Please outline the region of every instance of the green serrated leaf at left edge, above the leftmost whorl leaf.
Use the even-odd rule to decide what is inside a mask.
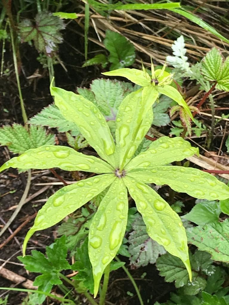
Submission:
[[[20,124],[0,128],[0,144],[8,146],[13,153],[22,154],[31,148],[55,144],[55,136],[47,135],[45,128],[30,126],[27,131]],[[27,168],[27,167],[24,167]]]

